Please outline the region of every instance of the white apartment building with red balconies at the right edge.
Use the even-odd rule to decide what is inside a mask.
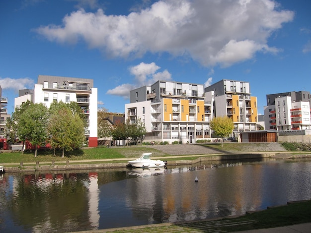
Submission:
[[[276,130],[311,129],[310,92],[283,92],[266,95],[265,128]]]

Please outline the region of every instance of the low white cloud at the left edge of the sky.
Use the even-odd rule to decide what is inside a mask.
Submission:
[[[18,90],[21,89],[33,89],[34,80],[31,78],[1,78],[0,77],[0,86],[2,90],[10,89],[15,93],[18,93]]]

